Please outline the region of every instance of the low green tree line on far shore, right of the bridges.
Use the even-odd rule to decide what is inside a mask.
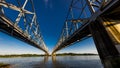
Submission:
[[[90,56],[90,55],[98,55],[98,54],[93,54],[93,53],[83,53],[83,54],[78,54],[78,53],[62,53],[62,54],[56,54],[56,56]]]

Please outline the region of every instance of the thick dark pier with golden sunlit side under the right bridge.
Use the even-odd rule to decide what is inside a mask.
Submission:
[[[113,25],[111,26],[114,27]],[[120,30],[117,33],[119,35],[114,35],[115,31],[112,31],[110,26],[105,26],[105,21],[101,18],[91,23],[89,28],[104,68],[119,68],[120,48],[118,46],[120,46],[120,42],[118,42],[118,39],[114,37],[120,37]],[[114,27],[114,29],[117,28]]]

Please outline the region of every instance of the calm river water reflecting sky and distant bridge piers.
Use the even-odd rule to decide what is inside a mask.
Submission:
[[[10,68],[103,68],[98,56],[0,58]]]

